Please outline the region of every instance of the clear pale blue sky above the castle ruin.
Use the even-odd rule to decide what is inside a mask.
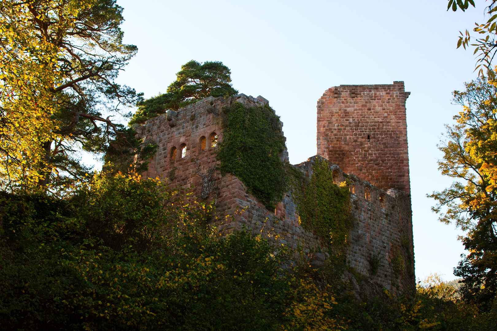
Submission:
[[[416,277],[451,280],[461,232],[437,221],[425,195],[451,183],[437,171],[436,144],[459,111],[451,91],[476,77],[473,52],[455,47],[459,30],[483,21],[485,1],[475,2],[454,13],[446,0],[118,0],[125,42],[139,49],[118,81],[151,97],[189,60],[222,61],[233,87],[281,116],[295,164],[316,154],[316,102],[327,88],[404,80]]]

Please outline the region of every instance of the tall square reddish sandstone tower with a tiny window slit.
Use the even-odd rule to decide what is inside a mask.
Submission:
[[[318,155],[379,189],[411,192],[403,81],[340,85],[318,101]]]

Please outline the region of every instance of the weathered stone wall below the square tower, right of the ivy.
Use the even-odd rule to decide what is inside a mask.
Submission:
[[[322,157],[316,155],[296,166],[310,178],[320,159]],[[364,276],[367,283],[375,283],[393,292],[414,289],[411,195],[396,189],[378,189],[354,174],[344,174],[331,162],[330,169],[336,170],[337,182],[350,181],[350,217],[354,226],[350,231],[347,263]],[[403,264],[398,265],[401,271],[397,274],[396,252],[401,255]],[[372,257],[379,259],[375,272],[372,270]],[[357,289],[362,288],[359,285]]]

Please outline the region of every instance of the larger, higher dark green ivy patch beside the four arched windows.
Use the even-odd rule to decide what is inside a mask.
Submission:
[[[239,102],[223,114],[223,142],[217,153],[221,172],[238,176],[248,192],[273,209],[287,188],[285,164],[279,159],[285,148],[279,116],[268,105],[246,107]]]

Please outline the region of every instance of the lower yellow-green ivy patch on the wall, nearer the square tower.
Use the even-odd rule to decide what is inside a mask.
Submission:
[[[311,180],[305,179],[302,174],[299,179],[299,175],[295,171],[293,173],[297,179],[294,192],[302,227],[312,230],[323,244],[335,251],[345,247],[353,225],[347,183],[335,184],[328,160],[315,163]]]

